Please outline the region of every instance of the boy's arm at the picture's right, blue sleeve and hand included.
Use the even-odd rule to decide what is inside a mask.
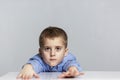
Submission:
[[[63,72],[59,77],[77,77],[83,75],[83,73],[81,73],[82,68],[74,56],[70,56],[66,59],[66,63],[63,66],[63,70],[66,72]]]

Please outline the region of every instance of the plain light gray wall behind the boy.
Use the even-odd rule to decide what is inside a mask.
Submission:
[[[0,75],[38,53],[49,25],[67,32],[83,70],[120,71],[120,0],[0,0]]]

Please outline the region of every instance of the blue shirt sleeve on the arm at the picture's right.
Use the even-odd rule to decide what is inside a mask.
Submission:
[[[63,70],[67,71],[70,66],[75,66],[79,71],[82,71],[82,68],[80,64],[76,61],[76,57],[73,56],[72,54],[69,54],[67,56],[65,61],[65,64],[63,66]]]

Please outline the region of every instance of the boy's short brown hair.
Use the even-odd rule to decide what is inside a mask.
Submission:
[[[40,47],[44,46],[44,41],[46,38],[52,39],[55,37],[63,38],[65,48],[67,47],[68,37],[67,37],[66,32],[63,29],[58,28],[58,27],[54,27],[54,26],[49,26],[41,32],[41,35],[39,37],[39,46]]]

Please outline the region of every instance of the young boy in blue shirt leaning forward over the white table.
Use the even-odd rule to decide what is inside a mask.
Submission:
[[[63,72],[59,78],[76,77],[81,72],[75,56],[68,52],[66,32],[58,27],[47,27],[39,37],[39,54],[23,66],[17,78],[39,78],[40,72]]]

